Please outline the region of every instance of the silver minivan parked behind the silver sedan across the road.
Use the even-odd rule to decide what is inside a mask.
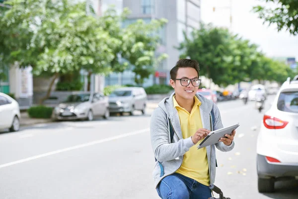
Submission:
[[[129,112],[141,110],[145,114],[147,94],[142,87],[126,87],[116,89],[109,96],[109,109],[111,113]]]

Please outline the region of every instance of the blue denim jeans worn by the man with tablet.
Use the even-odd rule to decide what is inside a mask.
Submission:
[[[176,173],[162,179],[156,191],[161,199],[208,199],[211,197],[211,190],[208,186]]]

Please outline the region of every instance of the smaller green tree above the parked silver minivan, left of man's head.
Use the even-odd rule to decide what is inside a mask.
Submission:
[[[109,7],[99,20],[104,30],[119,41],[113,52],[117,55],[111,62],[113,71],[121,73],[131,68],[136,74],[135,82],[143,84],[152,74],[153,67],[167,57],[166,54],[155,54],[160,40],[157,32],[167,20],[154,19],[145,23],[139,19],[129,25],[122,25],[127,23],[129,14],[130,11],[124,9],[123,13],[118,15],[113,7]]]

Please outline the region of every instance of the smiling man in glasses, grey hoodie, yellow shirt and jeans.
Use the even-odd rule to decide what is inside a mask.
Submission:
[[[197,149],[212,127],[223,128],[220,111],[212,100],[196,94],[201,82],[197,61],[180,59],[170,75],[175,92],[158,104],[150,123],[155,187],[162,199],[208,199],[208,186],[215,181],[215,146],[232,150],[235,131],[216,145]]]

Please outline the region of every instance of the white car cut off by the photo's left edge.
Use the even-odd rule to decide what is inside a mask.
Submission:
[[[20,128],[20,108],[16,100],[0,93],[0,129],[18,131]]]

